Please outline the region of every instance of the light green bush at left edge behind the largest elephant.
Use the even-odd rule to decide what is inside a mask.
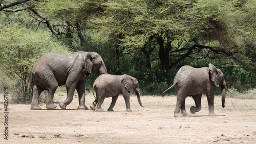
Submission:
[[[19,103],[30,102],[28,89],[30,70],[37,59],[48,53],[70,53],[65,46],[51,39],[51,34],[42,30],[27,29],[26,23],[10,22],[0,28],[1,74],[11,79],[8,87],[16,93]]]

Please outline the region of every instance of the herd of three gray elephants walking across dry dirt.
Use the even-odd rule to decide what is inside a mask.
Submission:
[[[48,53],[41,56],[34,64],[31,70],[32,103],[31,110],[40,110],[38,105],[39,95],[47,90],[46,108],[55,109],[57,106],[53,103],[53,95],[58,86],[65,85],[67,88],[67,98],[60,102],[59,106],[65,110],[73,100],[75,89],[78,93],[78,109],[88,109],[84,98],[84,76],[95,74],[98,78],[93,84],[96,93],[95,101],[90,108],[96,111],[102,111],[101,104],[105,98],[112,97],[112,102],[108,111],[113,111],[119,94],[123,95],[126,111],[132,111],[130,108],[129,93],[135,91],[138,102],[140,100],[139,83],[136,78],[129,75],[110,75],[107,73],[105,64],[97,53],[76,52],[69,55]],[[191,66],[182,66],[171,87],[166,89],[163,94],[175,87],[177,90],[177,103],[174,116],[177,117],[181,111],[182,116],[186,116],[185,99],[189,96],[195,101],[196,107],[190,107],[190,112],[195,113],[201,110],[202,92],[206,92],[208,101],[209,116],[215,116],[214,113],[214,86],[222,89],[222,107],[225,107],[226,82],[222,71],[209,63],[209,67],[194,68]],[[142,106],[144,107],[144,106]]]

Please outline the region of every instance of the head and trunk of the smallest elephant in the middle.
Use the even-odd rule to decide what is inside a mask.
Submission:
[[[139,102],[140,106],[142,106],[141,101],[140,101],[139,82],[137,81],[137,79],[134,77],[131,77],[129,75],[123,75],[121,83],[129,92],[135,91],[137,98],[138,98],[138,102]],[[144,106],[142,106],[142,107],[144,107]]]

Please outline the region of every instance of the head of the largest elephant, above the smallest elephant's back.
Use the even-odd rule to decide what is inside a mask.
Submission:
[[[89,75],[90,73],[93,73],[97,76],[101,74],[108,74],[105,64],[99,54],[87,52],[82,53],[85,53],[84,70],[86,71],[86,75]]]

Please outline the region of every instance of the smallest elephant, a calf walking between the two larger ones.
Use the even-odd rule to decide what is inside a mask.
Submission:
[[[110,74],[102,74],[95,80],[93,84],[93,89],[95,89],[96,91],[96,98],[93,104],[91,105],[92,110],[95,110],[95,106],[98,103],[96,110],[103,111],[101,109],[101,104],[103,103],[104,99],[108,97],[112,97],[112,102],[108,111],[113,111],[113,107],[116,104],[118,95],[122,93],[125,101],[125,105],[126,105],[126,111],[132,111],[130,108],[130,95],[129,95],[129,93],[132,91],[136,92],[139,104],[140,106],[142,106],[140,101],[139,83],[137,79],[129,75],[117,76],[117,75],[110,75]],[[93,95],[94,95],[94,92],[93,92]]]

